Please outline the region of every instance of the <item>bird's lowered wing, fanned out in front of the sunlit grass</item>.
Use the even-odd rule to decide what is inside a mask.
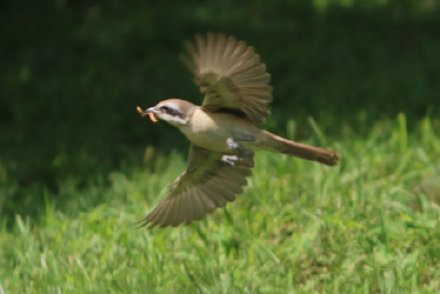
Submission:
[[[246,158],[231,166],[221,161],[221,156],[220,153],[191,145],[186,170],[141,225],[166,227],[189,224],[233,201],[235,195],[243,191],[254,161]]]

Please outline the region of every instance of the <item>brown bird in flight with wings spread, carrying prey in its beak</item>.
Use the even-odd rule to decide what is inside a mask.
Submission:
[[[197,34],[181,59],[204,95],[201,105],[170,98],[142,117],[178,128],[190,142],[187,166],[139,225],[177,227],[202,219],[241,194],[259,150],[334,166],[338,153],[258,127],[270,113],[271,76],[254,48],[221,33]]]

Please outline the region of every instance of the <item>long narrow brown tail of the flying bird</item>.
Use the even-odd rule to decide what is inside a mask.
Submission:
[[[326,165],[335,165],[340,158],[336,152],[331,150],[290,141],[268,131],[263,131],[261,143],[263,148],[270,151],[281,152]]]

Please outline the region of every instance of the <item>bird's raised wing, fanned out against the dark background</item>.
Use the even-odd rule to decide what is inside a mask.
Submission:
[[[252,47],[223,34],[196,35],[185,45],[183,61],[205,94],[203,107],[238,111],[254,123],[269,115],[270,75]]]

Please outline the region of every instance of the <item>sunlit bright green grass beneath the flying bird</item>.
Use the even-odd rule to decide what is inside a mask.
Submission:
[[[81,189],[66,179],[58,193],[67,204],[34,195],[46,201],[40,218],[17,215],[0,228],[0,293],[438,292],[434,123],[408,132],[400,115],[334,140],[310,120],[311,143],[340,151],[339,166],[259,153],[242,196],[177,229],[134,223],[184,168],[178,154],[149,148],[144,167]]]

